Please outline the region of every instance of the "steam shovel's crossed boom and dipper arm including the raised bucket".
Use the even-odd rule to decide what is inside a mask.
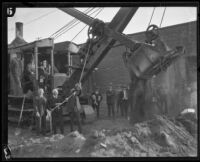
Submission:
[[[101,20],[93,19],[73,8],[60,8],[60,10],[89,25],[88,36],[90,37],[90,35],[92,35],[93,43],[89,57],[87,58],[85,67],[87,71],[83,74],[82,83],[84,83],[94,68],[98,66],[116,41],[130,49],[130,53],[124,57],[124,60],[131,74],[131,78],[133,79],[135,77],[141,79],[151,78],[162,70],[162,68],[160,68],[161,66],[166,68],[176,60],[176,58],[180,56],[177,53],[183,53],[182,48],[172,51],[166,50],[165,43],[158,35],[158,27],[156,25],[150,25],[147,28],[146,38],[148,43],[137,43],[122,34],[123,30],[138,10],[138,7],[120,8],[110,23],[104,23]],[[151,27],[153,27],[152,30],[150,30]],[[155,42],[154,45],[151,44],[152,41]],[[88,49],[87,45],[86,43],[86,51]],[[165,57],[163,57],[163,55],[165,55]],[[160,62],[163,63],[160,64]],[[63,85],[65,91],[69,92],[69,88],[73,88],[74,85],[78,83],[80,74],[80,70],[74,71],[70,79]]]

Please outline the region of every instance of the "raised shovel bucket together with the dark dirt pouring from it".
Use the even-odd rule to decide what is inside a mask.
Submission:
[[[156,46],[139,43],[137,46],[132,53],[124,54],[124,62],[132,80],[130,122],[133,124],[164,113],[153,101],[154,94],[149,79],[165,70],[184,53],[183,47],[167,51],[162,43]]]

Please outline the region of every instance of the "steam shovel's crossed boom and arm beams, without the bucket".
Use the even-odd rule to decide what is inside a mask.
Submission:
[[[98,29],[98,25],[100,26],[99,30],[103,29],[103,34],[100,36],[100,40],[91,47],[92,55],[90,55],[87,60],[86,69],[88,70],[83,74],[82,83],[86,81],[94,68],[97,67],[101,60],[106,56],[111,47],[116,43],[116,40],[120,43],[126,44],[130,48],[133,48],[135,45],[135,42],[121,34],[121,32],[123,32],[133,15],[136,13],[138,7],[121,8],[108,24],[93,19],[92,17],[72,8],[59,9],[92,27],[93,31],[91,31],[91,33],[93,32],[93,35],[95,35],[95,29]],[[94,25],[96,24],[98,25],[94,28]],[[73,88],[79,81],[80,75],[81,71],[75,70],[70,79],[63,84],[65,94],[68,94],[69,89]]]

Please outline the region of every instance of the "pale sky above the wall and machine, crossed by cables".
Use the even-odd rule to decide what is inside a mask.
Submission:
[[[76,8],[85,11],[87,8]],[[96,8],[97,9],[97,8]],[[115,14],[119,11],[119,7],[104,7],[96,18],[110,22]],[[150,22],[153,7],[139,7],[129,24],[124,29],[124,34],[133,34],[145,31]],[[164,13],[164,7],[156,7],[151,24],[160,25]],[[94,10],[95,11],[95,10]],[[93,12],[93,11],[92,11]],[[98,11],[91,14],[94,17]],[[73,19],[72,16],[59,10],[58,8],[17,8],[13,17],[8,17],[8,43],[15,38],[15,23],[22,22],[23,37],[27,42],[33,42],[37,39],[50,37],[64,25]],[[166,7],[161,27],[171,26],[181,23],[197,20],[196,7]],[[62,34],[54,40],[55,43],[63,41],[71,41],[72,38],[83,28],[85,24],[80,22],[68,32]],[[87,40],[88,26],[73,39],[74,43],[81,44]]]

